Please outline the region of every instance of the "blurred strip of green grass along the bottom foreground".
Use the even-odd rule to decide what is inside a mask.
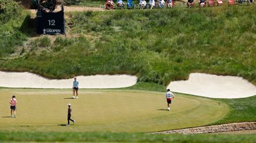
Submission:
[[[41,133],[0,132],[8,142],[255,142],[255,134],[127,134],[127,133]]]

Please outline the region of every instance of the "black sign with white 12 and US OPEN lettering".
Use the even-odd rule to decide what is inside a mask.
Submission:
[[[65,34],[64,11],[37,12],[36,30],[38,34]]]

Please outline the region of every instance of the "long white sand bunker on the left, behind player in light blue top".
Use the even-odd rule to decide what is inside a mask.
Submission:
[[[78,76],[79,88],[122,88],[137,82],[133,75]],[[52,80],[30,72],[0,71],[0,87],[16,88],[72,88],[73,79]]]

